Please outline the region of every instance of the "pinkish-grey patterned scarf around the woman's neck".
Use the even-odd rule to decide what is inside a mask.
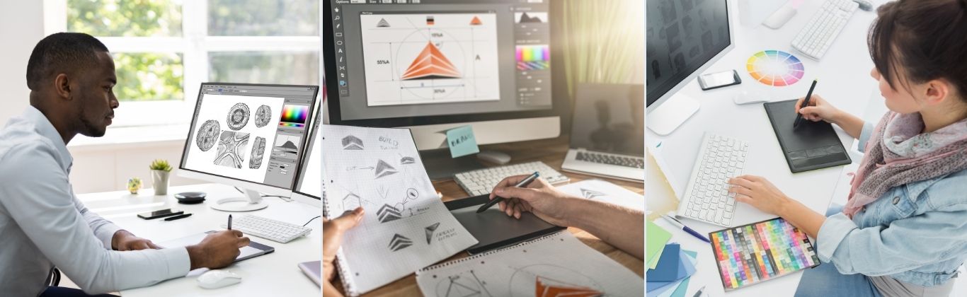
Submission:
[[[967,119],[923,132],[919,112],[887,112],[866,142],[843,213],[853,218],[891,188],[967,169]]]

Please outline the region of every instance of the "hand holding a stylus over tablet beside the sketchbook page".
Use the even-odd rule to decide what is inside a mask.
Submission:
[[[540,178],[531,182],[527,188],[513,187],[527,176],[515,175],[500,181],[490,192],[490,199],[504,197],[504,201],[499,203],[500,210],[517,219],[520,219],[520,214],[531,212],[547,223],[570,225],[566,207],[573,197],[558,191]]]

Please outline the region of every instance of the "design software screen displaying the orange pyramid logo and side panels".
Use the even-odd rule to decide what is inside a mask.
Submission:
[[[334,1],[342,119],[551,108],[546,1],[476,2]]]

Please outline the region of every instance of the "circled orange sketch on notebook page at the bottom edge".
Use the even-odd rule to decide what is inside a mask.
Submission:
[[[513,296],[596,297],[604,295],[601,285],[590,277],[550,264],[535,264],[515,269],[508,287]]]

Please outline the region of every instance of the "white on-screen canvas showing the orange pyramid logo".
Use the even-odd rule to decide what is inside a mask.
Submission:
[[[500,100],[495,13],[360,15],[366,104]]]

